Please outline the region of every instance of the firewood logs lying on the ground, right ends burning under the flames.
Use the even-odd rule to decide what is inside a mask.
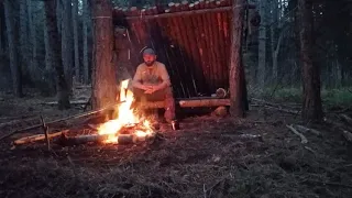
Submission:
[[[13,141],[13,145],[23,145],[31,143],[45,143],[47,150],[51,144],[62,146],[73,146],[79,144],[139,144],[143,142],[153,142],[157,134],[157,128],[145,123],[132,123],[123,125],[114,132],[103,132],[105,124],[112,123],[108,121],[100,124],[84,124],[78,128],[62,130],[58,132],[50,132],[48,125],[43,121],[38,131],[41,134],[23,136]],[[111,125],[111,124],[110,124]],[[111,127],[110,127],[111,128]]]

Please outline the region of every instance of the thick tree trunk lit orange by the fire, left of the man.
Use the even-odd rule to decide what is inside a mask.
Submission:
[[[116,102],[117,77],[112,64],[113,26],[111,0],[92,1],[94,59],[92,109]]]

